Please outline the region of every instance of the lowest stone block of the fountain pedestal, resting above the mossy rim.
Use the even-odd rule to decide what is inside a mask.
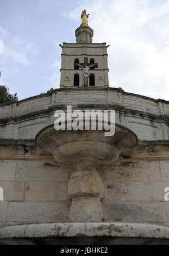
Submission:
[[[101,222],[103,216],[100,198],[73,198],[69,212],[70,222]]]

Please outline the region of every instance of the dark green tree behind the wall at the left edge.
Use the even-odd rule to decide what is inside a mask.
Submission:
[[[0,85],[0,103],[10,103],[18,101],[17,93],[10,94],[9,88],[5,85]]]

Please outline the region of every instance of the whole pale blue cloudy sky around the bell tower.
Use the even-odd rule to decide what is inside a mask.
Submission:
[[[19,99],[59,88],[59,44],[84,8],[93,42],[110,45],[109,85],[169,101],[169,0],[0,0],[0,84]]]

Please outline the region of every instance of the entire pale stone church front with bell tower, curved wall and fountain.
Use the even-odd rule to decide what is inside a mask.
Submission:
[[[108,46],[93,36],[84,24],[60,45],[60,89],[0,105],[0,244],[169,239],[169,102],[111,88]],[[115,110],[114,136],[55,131],[68,106]]]

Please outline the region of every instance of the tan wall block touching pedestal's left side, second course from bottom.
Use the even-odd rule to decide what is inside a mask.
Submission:
[[[67,187],[63,182],[30,182],[26,184],[25,201],[64,201],[68,195]]]

